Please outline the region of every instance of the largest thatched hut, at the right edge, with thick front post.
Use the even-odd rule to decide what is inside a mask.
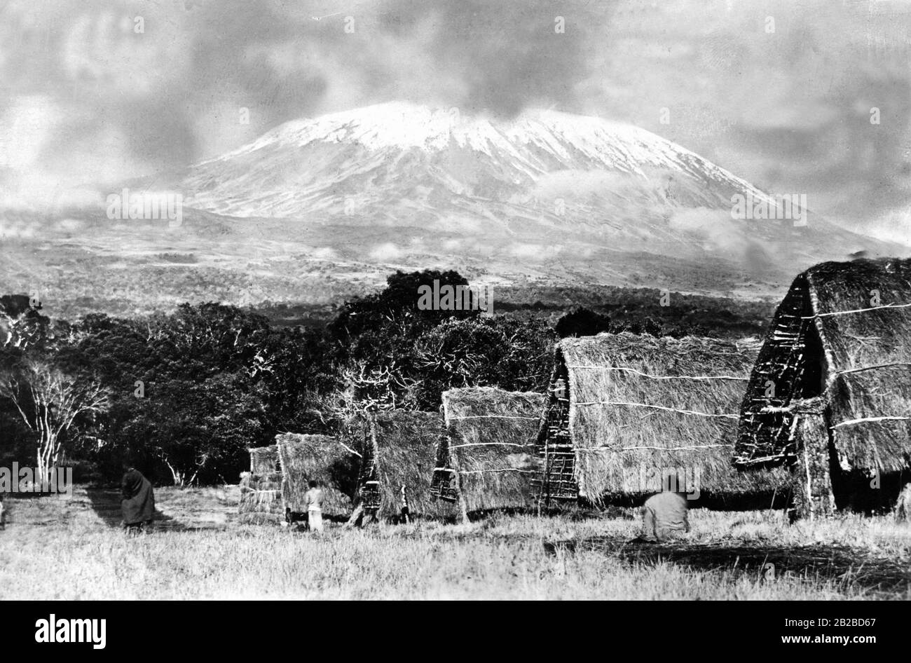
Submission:
[[[824,262],[775,311],[736,462],[790,466],[802,515],[894,504],[911,480],[911,260]]]

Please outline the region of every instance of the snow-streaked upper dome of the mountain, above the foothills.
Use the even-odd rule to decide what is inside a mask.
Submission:
[[[763,195],[664,138],[598,117],[531,110],[501,120],[397,102],[288,122],[201,162],[183,187],[201,209],[280,217],[470,214],[482,201],[559,214],[558,200],[629,207],[632,192],[651,204],[724,208],[732,193]]]

